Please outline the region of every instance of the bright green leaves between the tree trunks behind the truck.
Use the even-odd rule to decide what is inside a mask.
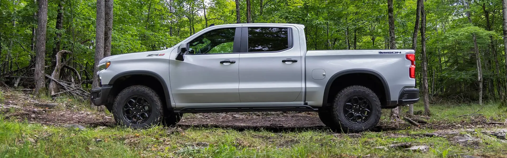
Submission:
[[[91,73],[96,1],[61,1],[62,30],[55,28],[58,3],[49,4],[47,64],[54,56],[58,32],[62,33],[60,49],[73,52],[65,57],[71,59],[70,65]],[[241,21],[245,22],[246,3],[239,2]],[[503,86],[507,81],[501,75],[506,72],[502,66],[505,58],[501,39],[501,1],[474,1],[467,10],[462,4],[462,0],[424,1],[430,93],[441,97],[476,93],[477,68],[472,38],[475,35],[483,64],[485,98],[498,100],[500,91],[507,91]],[[0,70],[28,66],[34,57],[32,30],[37,27],[37,19],[33,16],[37,4],[26,0],[3,0],[0,6]],[[472,23],[468,22],[467,11],[472,15]],[[396,47],[399,49],[412,49],[415,12],[416,0],[394,2]],[[263,0],[262,6],[261,1],[251,1],[251,13],[254,23],[304,24],[310,50],[388,49],[386,1]],[[112,54],[167,49],[210,24],[235,22],[235,1],[232,0],[115,1]],[[421,85],[420,35],[417,41],[417,85]],[[213,51],[223,52],[222,49],[228,47]],[[49,71],[50,68],[47,73]],[[82,74],[83,78],[85,74]],[[464,99],[475,101],[477,97]]]

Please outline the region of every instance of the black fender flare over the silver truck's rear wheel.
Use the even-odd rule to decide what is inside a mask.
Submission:
[[[331,76],[331,78],[329,78],[328,83],[325,85],[322,106],[325,106],[326,104],[328,104],[329,90],[331,89],[331,85],[336,80],[336,78],[338,78],[342,75],[345,75],[345,74],[350,74],[350,73],[368,73],[368,74],[373,74],[373,75],[377,76],[380,79],[380,82],[382,82],[382,85],[384,86],[386,104],[390,104],[391,95],[389,93],[389,87],[387,85],[387,82],[385,82],[385,78],[382,75],[380,75],[379,73],[377,73],[375,71],[367,70],[367,69],[351,69],[351,70],[337,72],[337,73],[333,74],[333,76]]]

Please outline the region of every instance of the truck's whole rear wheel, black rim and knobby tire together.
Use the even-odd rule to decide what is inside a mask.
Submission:
[[[333,102],[332,115],[336,130],[363,132],[372,130],[380,120],[381,104],[377,95],[363,86],[350,86],[340,92]]]

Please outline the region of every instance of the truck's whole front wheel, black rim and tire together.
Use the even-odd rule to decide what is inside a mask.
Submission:
[[[113,104],[113,116],[118,125],[134,129],[158,125],[163,119],[162,101],[147,86],[130,86],[118,94]]]

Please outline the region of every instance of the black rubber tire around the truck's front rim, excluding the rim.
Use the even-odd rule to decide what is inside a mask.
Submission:
[[[127,99],[131,98],[132,96],[143,97],[151,106],[150,116],[144,123],[139,125],[129,123],[123,112],[124,105],[128,101]],[[141,85],[130,86],[122,90],[115,99],[112,113],[115,118],[115,122],[118,125],[133,129],[145,129],[151,126],[159,125],[162,122],[164,116],[162,101],[160,100],[159,95],[150,87]]]

